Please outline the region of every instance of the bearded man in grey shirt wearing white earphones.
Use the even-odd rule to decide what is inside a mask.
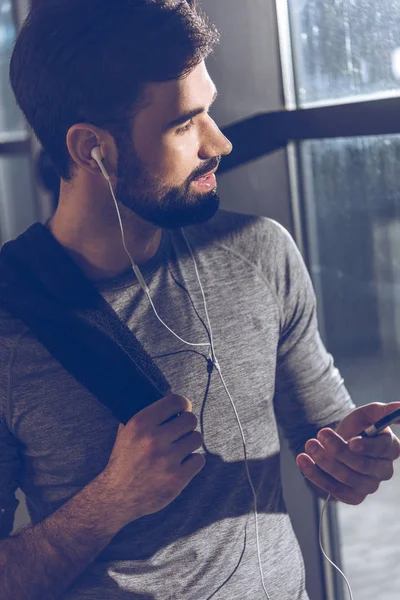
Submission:
[[[32,11],[16,43],[17,101],[61,176],[43,269],[59,264],[62,285],[72,258],[171,393],[120,424],[2,310],[4,600],[304,600],[277,424],[339,500],[358,504],[393,473],[389,429],[348,440],[398,405],[352,412],[289,235],[217,213],[231,145],[209,115],[216,37],[184,1],[67,0]],[[32,526],[10,537],[18,485]]]

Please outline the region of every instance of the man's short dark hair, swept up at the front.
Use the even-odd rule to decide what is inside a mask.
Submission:
[[[18,105],[59,175],[75,123],[112,135],[131,126],[146,84],[180,79],[218,41],[195,0],[41,0],[15,43],[10,81]]]

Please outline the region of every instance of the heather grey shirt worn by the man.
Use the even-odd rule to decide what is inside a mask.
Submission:
[[[289,234],[269,219],[221,211],[186,235],[246,438],[266,587],[271,600],[305,600],[304,565],[282,498],[278,424],[298,452],[353,405],[318,335],[310,279]],[[201,290],[180,231],[164,232],[142,272],[160,317],[186,341],[207,343]],[[218,373],[209,378],[207,348],[185,346],[160,324],[133,273],[99,291],[173,391],[191,400],[207,462],[170,506],[120,531],[64,600],[262,600],[242,440]],[[0,335],[5,536],[17,486],[32,521],[44,519],[104,469],[118,422],[23,323],[1,314]]]

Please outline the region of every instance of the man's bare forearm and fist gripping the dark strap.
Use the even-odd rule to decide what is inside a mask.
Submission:
[[[50,517],[0,542],[1,600],[58,598],[120,529],[168,506],[205,464],[195,453],[203,443],[196,427],[190,402],[172,394],[120,425],[100,475]]]

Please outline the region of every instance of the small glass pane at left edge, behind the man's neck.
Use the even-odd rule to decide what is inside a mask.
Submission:
[[[0,157],[0,243],[37,220],[32,181],[30,157]]]

